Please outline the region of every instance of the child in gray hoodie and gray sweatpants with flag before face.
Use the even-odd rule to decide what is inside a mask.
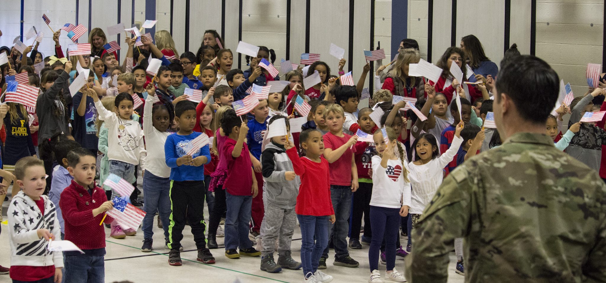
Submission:
[[[280,121],[282,119],[282,121]],[[273,123],[285,123],[287,134],[271,138],[263,151],[263,194],[265,214],[261,224],[262,258],[261,270],[269,273],[280,272],[282,268],[298,270],[301,262],[291,257],[290,243],[296,226],[295,206],[301,180],[296,176],[293,163],[288,160],[285,147],[290,135],[290,125],[286,117],[276,115],[269,120]],[[267,130],[269,131],[269,129]],[[273,260],[276,239],[278,239],[278,264]]]

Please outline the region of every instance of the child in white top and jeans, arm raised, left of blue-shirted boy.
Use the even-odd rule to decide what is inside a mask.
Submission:
[[[179,66],[181,67],[181,66]],[[145,218],[143,218],[143,246],[141,252],[151,252],[153,244],[153,218],[158,212],[158,218],[164,229],[164,242],[168,244],[168,227],[170,225],[170,168],[167,166],[164,154],[164,144],[170,132],[167,132],[173,115],[164,105],[153,105],[155,89],[151,83],[147,86],[150,96],[145,100],[143,115],[143,134],[145,144],[150,149],[146,159],[145,174],[143,175],[143,190]],[[168,245],[167,245],[168,246]]]

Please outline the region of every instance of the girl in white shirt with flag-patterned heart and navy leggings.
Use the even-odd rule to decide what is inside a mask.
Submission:
[[[371,272],[368,282],[371,283],[383,282],[378,264],[379,247],[384,239],[387,262],[385,279],[406,282],[404,275],[396,270],[395,262],[400,216],[408,215],[410,209],[410,181],[404,165],[404,148],[398,142],[399,134],[390,127],[386,127],[385,131],[388,143],[385,143],[382,131],[376,131],[373,135],[378,155],[372,158],[373,184],[376,186],[370,200],[369,224],[374,233],[368,250]],[[396,150],[399,158],[395,155]]]

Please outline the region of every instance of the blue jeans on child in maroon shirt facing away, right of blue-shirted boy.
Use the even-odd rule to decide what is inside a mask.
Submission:
[[[248,249],[252,247],[248,239],[248,223],[250,222],[253,196],[230,195],[225,190],[227,216],[225,217],[225,250]]]

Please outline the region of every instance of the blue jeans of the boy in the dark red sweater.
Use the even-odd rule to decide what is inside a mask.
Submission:
[[[104,256],[65,256],[64,259],[64,282],[105,283]]]

